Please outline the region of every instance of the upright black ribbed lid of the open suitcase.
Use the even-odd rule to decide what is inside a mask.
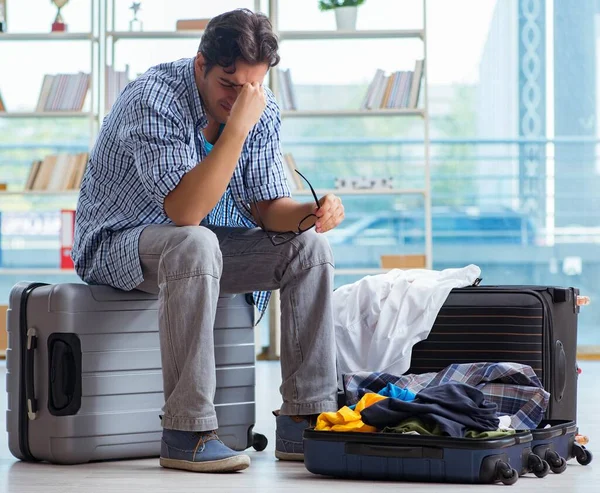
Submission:
[[[407,374],[453,363],[510,361],[533,368],[550,392],[547,419],[577,420],[579,290],[547,286],[453,289]]]

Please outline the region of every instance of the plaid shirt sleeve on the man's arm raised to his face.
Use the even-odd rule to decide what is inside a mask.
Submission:
[[[119,131],[144,189],[163,211],[165,197],[197,164],[190,146],[193,129],[186,128],[174,100],[168,103],[142,95],[130,104]]]

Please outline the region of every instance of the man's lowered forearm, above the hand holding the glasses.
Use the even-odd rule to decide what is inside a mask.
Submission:
[[[289,197],[260,202],[260,217],[264,227],[269,231],[298,231],[298,225],[309,214],[314,214],[316,204],[314,202],[300,203]],[[256,211],[254,217],[258,221]],[[316,217],[309,217],[302,223],[303,229],[315,224]]]

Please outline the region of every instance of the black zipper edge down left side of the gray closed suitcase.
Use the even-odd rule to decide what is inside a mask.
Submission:
[[[33,351],[35,350],[35,335],[29,332],[27,323],[27,301],[34,289],[47,286],[46,283],[32,283],[21,294],[19,305],[19,342],[20,342],[20,379],[19,379],[19,448],[26,461],[37,461],[29,448],[29,420],[35,416],[37,405],[35,403],[34,375],[33,375]],[[29,351],[28,351],[29,349]],[[29,391],[29,392],[28,392]],[[29,393],[29,395],[28,395]]]

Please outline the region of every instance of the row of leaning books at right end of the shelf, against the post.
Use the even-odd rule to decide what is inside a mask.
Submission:
[[[423,78],[423,60],[415,62],[415,70],[399,70],[387,75],[377,69],[369,84],[361,109],[416,108]]]

